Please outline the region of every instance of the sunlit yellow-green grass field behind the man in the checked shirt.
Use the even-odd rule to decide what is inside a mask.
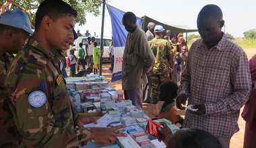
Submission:
[[[242,48],[255,48],[256,50],[256,40],[253,39],[234,39],[234,42],[241,46]],[[188,42],[187,46],[190,48],[193,42]]]

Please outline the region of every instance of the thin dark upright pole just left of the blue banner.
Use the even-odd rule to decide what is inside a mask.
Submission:
[[[106,5],[106,0],[103,0],[101,34],[100,34],[100,75],[102,75],[102,54],[104,52],[104,50],[103,50],[103,33],[104,33],[105,5]]]

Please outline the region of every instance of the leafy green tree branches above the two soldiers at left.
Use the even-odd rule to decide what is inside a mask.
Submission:
[[[11,7],[7,7],[7,9],[13,9],[19,7],[23,11],[28,13],[28,17],[30,17],[30,22],[32,26],[34,26],[34,19],[36,15],[36,9],[38,8],[39,4],[43,0],[0,0],[0,6],[2,8],[3,4],[12,3]],[[92,13],[93,15],[97,16],[100,14],[100,5],[102,4],[101,0],[63,0],[69,5],[71,5],[74,9],[77,10],[77,19],[76,22],[82,26],[86,24],[86,13]]]

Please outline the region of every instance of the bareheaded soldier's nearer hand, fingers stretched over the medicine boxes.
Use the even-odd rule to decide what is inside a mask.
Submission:
[[[119,125],[111,128],[91,128],[91,139],[103,143],[104,145],[110,145],[115,143],[117,137],[127,137],[125,133],[117,133],[120,128],[125,128],[125,125]]]

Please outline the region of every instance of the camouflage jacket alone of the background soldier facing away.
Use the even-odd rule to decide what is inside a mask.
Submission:
[[[154,38],[148,42],[156,59],[152,69],[153,75],[164,75],[168,77],[171,69],[174,67],[174,56],[172,54],[171,44],[168,40]]]

